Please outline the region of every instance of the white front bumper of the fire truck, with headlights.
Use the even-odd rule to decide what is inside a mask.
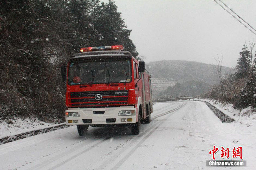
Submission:
[[[123,110],[135,110],[134,116],[118,116],[118,113]],[[93,114],[95,111],[105,111],[104,114]],[[123,107],[105,107],[105,108],[69,108],[66,112],[78,112],[80,117],[66,117],[66,123],[68,125],[103,125],[103,124],[127,124],[136,123],[138,113],[133,106]],[[132,118],[131,122],[127,122],[128,118]],[[121,119],[126,119],[126,122],[122,122]],[[72,123],[68,123],[68,120],[72,120]],[[74,123],[74,120],[78,120],[78,123]],[[85,123],[85,122],[90,123]],[[110,121],[109,121],[110,120]],[[115,122],[113,122],[115,120]]]

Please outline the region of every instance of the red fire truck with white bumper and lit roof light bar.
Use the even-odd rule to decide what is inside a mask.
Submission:
[[[132,134],[139,134],[140,124],[150,123],[151,76],[144,62],[123,49],[122,45],[81,48],[82,53],[60,66],[67,84],[66,123],[77,125],[80,136],[89,125],[130,126]]]

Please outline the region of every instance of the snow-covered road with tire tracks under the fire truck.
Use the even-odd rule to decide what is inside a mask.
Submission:
[[[222,123],[203,102],[153,105],[152,122],[139,135],[128,129],[89,127],[79,137],[76,126],[0,145],[0,169],[254,169],[255,132]],[[247,167],[206,167],[209,150],[243,147]],[[232,158],[230,149],[228,160]],[[220,158],[220,151],[215,154]],[[227,159],[224,159],[227,160]]]

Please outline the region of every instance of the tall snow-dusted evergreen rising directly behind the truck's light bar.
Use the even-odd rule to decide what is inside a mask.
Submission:
[[[123,45],[134,57],[138,55],[136,47],[129,36],[132,30],[126,29],[121,13],[113,0],[101,3],[92,13],[95,31],[99,35],[97,46]]]

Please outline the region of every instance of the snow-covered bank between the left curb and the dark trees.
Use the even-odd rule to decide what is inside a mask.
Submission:
[[[54,123],[45,123],[37,118],[14,118],[0,123],[0,138],[14,136],[33,130],[56,126]]]

